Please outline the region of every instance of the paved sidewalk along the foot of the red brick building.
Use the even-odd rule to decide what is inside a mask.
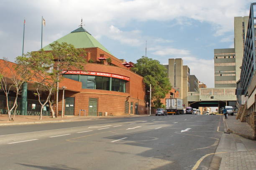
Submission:
[[[30,115],[16,115],[14,121],[8,121],[8,115],[0,114],[0,126],[6,125],[28,125],[28,124],[41,124],[41,123],[56,123],[56,122],[75,122],[75,121],[85,121],[85,120],[97,120],[97,119],[107,119],[113,117],[139,117],[148,115],[123,115],[123,116],[61,116],[57,118],[52,118],[50,116],[43,116],[42,120],[39,120],[39,116]]]

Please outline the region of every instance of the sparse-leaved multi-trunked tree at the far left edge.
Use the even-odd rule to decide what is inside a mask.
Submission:
[[[17,99],[18,95],[21,94],[22,84],[26,82],[30,76],[30,71],[28,70],[28,67],[26,67],[26,63],[20,62],[19,60],[16,60],[15,62],[16,63],[11,63],[6,59],[3,59],[3,62],[0,64],[0,87],[5,93],[6,107],[10,121],[14,121],[16,109],[18,107]],[[11,91],[15,92],[13,103],[9,101],[9,94]],[[11,117],[13,109],[13,117]]]

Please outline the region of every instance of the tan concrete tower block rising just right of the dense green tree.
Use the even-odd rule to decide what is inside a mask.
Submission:
[[[187,92],[189,91],[189,74],[190,69],[183,65],[181,58],[169,58],[168,65],[164,65],[168,72],[169,81],[179,92],[179,98],[183,99],[183,104],[188,106]]]

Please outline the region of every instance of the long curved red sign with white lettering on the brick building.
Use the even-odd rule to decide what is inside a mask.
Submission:
[[[62,71],[62,74],[104,76],[104,77],[113,77],[113,78],[118,78],[118,79],[130,81],[129,77],[125,77],[123,75],[116,75],[116,74],[106,73],[106,72],[76,71],[76,70],[69,70],[69,71],[67,71],[67,70],[64,70],[64,71]]]

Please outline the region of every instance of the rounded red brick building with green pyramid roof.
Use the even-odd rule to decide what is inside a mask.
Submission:
[[[132,62],[125,62],[114,57],[87,30],[80,27],[68,35],[56,40],[67,42],[76,48],[84,49],[87,63],[84,70],[69,70],[64,73],[59,83],[58,113],[62,110],[62,94],[64,91],[64,115],[100,116],[108,115],[146,114],[146,92],[143,77],[131,71]],[[49,45],[43,48],[51,51]],[[110,58],[111,60],[107,60]],[[26,85],[26,104],[24,114],[38,115],[39,104],[33,94],[33,85]],[[4,98],[3,94],[0,96]],[[33,99],[33,101],[32,101]],[[31,101],[28,101],[31,100]],[[52,100],[54,96],[52,96]],[[22,104],[23,108],[25,104]],[[31,107],[33,105],[36,107]],[[24,107],[24,108],[25,108]],[[1,108],[0,108],[1,109]],[[4,108],[2,109],[4,110]],[[21,108],[18,108],[21,110]],[[39,111],[40,113],[40,111]],[[44,115],[49,115],[46,106]]]

